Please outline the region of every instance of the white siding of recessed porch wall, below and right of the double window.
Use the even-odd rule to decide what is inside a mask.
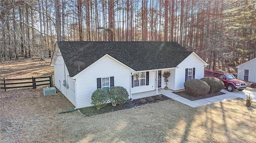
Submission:
[[[156,72],[149,72],[149,85],[132,87],[132,94],[155,90],[156,86]]]

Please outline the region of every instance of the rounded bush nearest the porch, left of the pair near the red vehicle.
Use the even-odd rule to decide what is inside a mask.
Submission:
[[[190,79],[184,82],[186,92],[193,97],[199,97],[210,91],[210,86],[200,79]]]

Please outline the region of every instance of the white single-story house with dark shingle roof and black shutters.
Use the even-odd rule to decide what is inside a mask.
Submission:
[[[208,65],[176,42],[58,41],[52,57],[55,86],[76,108],[92,106],[97,88],[123,86],[132,94],[184,89],[185,80],[204,77]],[[156,90],[157,92],[157,90]]]

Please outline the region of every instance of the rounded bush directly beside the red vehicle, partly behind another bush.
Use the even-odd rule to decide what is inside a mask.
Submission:
[[[224,83],[215,77],[203,77],[200,80],[205,81],[210,86],[209,93],[219,92],[224,88]]]

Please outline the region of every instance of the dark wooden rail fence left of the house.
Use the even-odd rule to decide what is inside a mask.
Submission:
[[[20,81],[20,82],[18,82]],[[42,77],[33,77],[32,78],[16,78],[16,79],[0,79],[0,88],[10,89],[10,88],[24,88],[24,87],[33,87],[36,89],[36,86],[49,85],[52,84],[52,76],[42,76]],[[15,86],[16,85],[16,86]]]

